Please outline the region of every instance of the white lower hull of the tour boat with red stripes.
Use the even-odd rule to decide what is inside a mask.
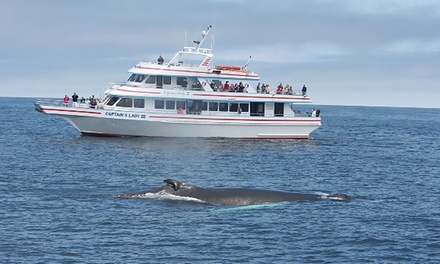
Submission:
[[[38,108],[64,118],[85,135],[307,139],[321,125],[321,119],[316,117],[146,114],[42,105]]]

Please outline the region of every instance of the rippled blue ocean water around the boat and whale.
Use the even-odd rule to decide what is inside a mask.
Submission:
[[[439,263],[440,109],[318,107],[310,140],[104,138],[0,98],[0,263]],[[112,197],[166,178],[353,199]]]

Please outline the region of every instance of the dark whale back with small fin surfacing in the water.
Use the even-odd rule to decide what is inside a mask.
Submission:
[[[347,194],[291,193],[284,191],[246,188],[202,188],[174,179],[166,179],[160,188],[116,195],[116,198],[140,198],[148,195],[182,197],[209,205],[246,206],[289,201],[314,201],[322,199],[349,201]]]

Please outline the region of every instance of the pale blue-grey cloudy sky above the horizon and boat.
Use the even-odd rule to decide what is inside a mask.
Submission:
[[[212,25],[214,64],[315,104],[440,108],[438,0],[0,0],[0,25],[3,97],[99,95]]]

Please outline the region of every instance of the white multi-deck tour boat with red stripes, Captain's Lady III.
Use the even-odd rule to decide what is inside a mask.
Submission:
[[[37,99],[36,110],[64,118],[81,134],[103,136],[307,139],[321,126],[319,112],[296,110],[311,103],[308,94],[257,90],[260,77],[247,69],[249,61],[213,66],[212,46],[203,47],[211,29],[169,62],[139,62],[96,105]],[[227,84],[240,85],[231,92]]]

